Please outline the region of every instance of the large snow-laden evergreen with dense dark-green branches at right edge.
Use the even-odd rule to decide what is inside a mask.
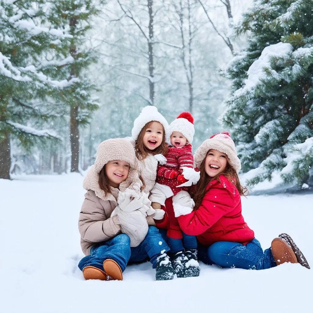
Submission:
[[[233,95],[223,122],[250,185],[274,171],[298,185],[312,179],[312,8],[312,0],[255,1],[237,29],[249,45],[228,66]]]

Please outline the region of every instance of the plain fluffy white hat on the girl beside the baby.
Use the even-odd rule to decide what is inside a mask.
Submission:
[[[168,136],[168,123],[165,117],[158,112],[157,108],[153,105],[147,105],[134,121],[133,129],[131,130],[131,136],[134,140],[138,139],[139,133],[142,128],[149,122],[156,121],[163,125],[165,138]]]

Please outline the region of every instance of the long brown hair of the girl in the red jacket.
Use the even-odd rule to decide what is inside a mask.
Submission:
[[[208,155],[208,153],[207,153],[207,155]],[[224,175],[230,182],[232,182],[236,186],[240,196],[246,196],[248,194],[248,189],[247,189],[247,187],[242,187],[242,185],[240,184],[240,180],[239,180],[239,177],[238,177],[236,170],[229,164],[228,156],[226,155],[227,165],[226,165],[224,171],[222,173],[219,173],[218,175],[216,175],[214,177],[209,177],[205,171],[205,159],[206,159],[207,155],[205,156],[205,158],[203,159],[203,161],[201,163],[200,179],[196,185],[196,192],[195,192],[195,195],[193,197],[193,200],[195,202],[195,210],[197,210],[200,207],[200,205],[202,203],[202,199],[207,192],[206,187],[208,186],[208,184],[210,182],[212,182],[213,180],[216,180],[216,179],[218,182],[220,182],[220,178],[219,178],[220,175]]]

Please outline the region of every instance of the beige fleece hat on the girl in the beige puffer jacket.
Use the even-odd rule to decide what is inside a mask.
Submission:
[[[136,167],[135,150],[130,141],[123,138],[102,141],[97,150],[95,172],[99,174],[106,163],[114,160],[126,161],[131,168]]]

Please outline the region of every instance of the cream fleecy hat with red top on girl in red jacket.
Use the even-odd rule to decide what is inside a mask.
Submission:
[[[237,156],[235,143],[229,133],[217,133],[209,139],[203,141],[202,145],[196,150],[194,162],[196,167],[200,168],[202,161],[210,149],[215,149],[225,153],[228,157],[229,164],[238,173],[241,169],[241,163]]]

